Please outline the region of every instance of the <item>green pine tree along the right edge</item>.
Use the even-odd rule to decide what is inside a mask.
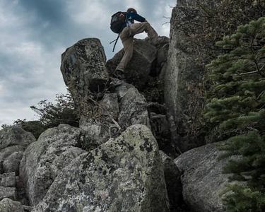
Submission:
[[[234,156],[223,171],[242,182],[228,185],[226,209],[265,211],[265,18],[241,25],[217,45],[223,54],[207,66],[208,139],[226,141],[223,157]]]

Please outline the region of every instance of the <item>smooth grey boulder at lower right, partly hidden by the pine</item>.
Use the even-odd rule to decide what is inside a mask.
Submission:
[[[193,211],[223,211],[220,192],[228,182],[222,174],[225,160],[214,143],[194,148],[175,159],[182,173],[183,197]]]

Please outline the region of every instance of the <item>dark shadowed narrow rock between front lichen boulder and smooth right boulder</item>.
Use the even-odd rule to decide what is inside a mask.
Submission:
[[[174,160],[163,151],[159,151],[159,153],[164,167],[165,183],[167,184],[167,194],[170,200],[170,211],[177,211],[183,204],[181,175]]]

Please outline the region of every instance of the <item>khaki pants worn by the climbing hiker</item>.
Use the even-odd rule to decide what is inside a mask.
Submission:
[[[124,56],[119,62],[116,70],[122,70],[126,68],[127,64],[131,60],[134,52],[134,35],[146,32],[148,37],[151,38],[151,42],[154,44],[158,41],[158,33],[151,27],[148,22],[133,23],[130,27],[126,27],[122,30],[119,37],[122,40],[124,46]]]

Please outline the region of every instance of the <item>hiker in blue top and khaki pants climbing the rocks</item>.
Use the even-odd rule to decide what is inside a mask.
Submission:
[[[122,45],[124,46],[124,56],[122,60],[117,65],[115,72],[124,73],[124,69],[131,60],[134,52],[134,35],[146,32],[148,37],[150,37],[151,42],[155,45],[158,41],[158,33],[151,27],[147,22],[146,18],[143,18],[134,8],[128,8],[126,13],[123,13],[125,16],[124,24],[120,29],[119,37],[122,40]],[[139,21],[140,23],[134,23],[134,20]]]

